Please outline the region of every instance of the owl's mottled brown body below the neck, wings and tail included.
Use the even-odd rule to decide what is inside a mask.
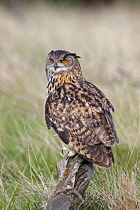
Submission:
[[[118,141],[110,107],[103,104],[106,98],[84,84],[65,84],[48,97],[46,123],[86,159],[109,167],[113,163],[111,146]]]

